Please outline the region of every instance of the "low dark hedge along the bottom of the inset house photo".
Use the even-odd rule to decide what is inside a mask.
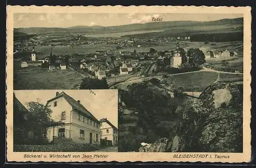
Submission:
[[[98,145],[78,144],[74,142],[53,145],[14,145],[14,152],[90,152],[99,149]]]

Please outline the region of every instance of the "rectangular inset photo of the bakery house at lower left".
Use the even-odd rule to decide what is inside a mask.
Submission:
[[[19,90],[13,97],[14,152],[118,151],[117,90]]]

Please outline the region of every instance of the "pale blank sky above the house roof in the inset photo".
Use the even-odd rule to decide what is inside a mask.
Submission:
[[[63,90],[18,90],[14,91],[15,97],[28,108],[28,102],[39,102],[46,105],[47,101],[54,98],[56,92]],[[118,128],[117,113],[117,90],[64,90],[66,94],[80,100],[80,103],[86,107],[98,120],[107,118]]]

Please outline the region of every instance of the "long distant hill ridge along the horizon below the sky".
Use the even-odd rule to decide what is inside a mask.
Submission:
[[[215,28],[216,26],[216,28]],[[221,27],[219,27],[221,26]],[[163,22],[149,22],[149,23],[136,23],[118,26],[73,26],[68,28],[58,27],[28,27],[14,29],[16,32],[26,34],[45,34],[45,33],[89,33],[89,34],[104,34],[104,33],[119,33],[119,32],[131,32],[131,31],[175,31],[186,30],[188,32],[200,31],[200,29],[208,29],[209,31],[218,29],[229,29],[230,27],[243,26],[243,18],[236,19],[221,19],[216,21],[163,21]],[[194,28],[193,30],[193,27]],[[175,30],[176,28],[176,30]],[[166,32],[165,32],[166,33]],[[182,32],[180,32],[182,33]]]

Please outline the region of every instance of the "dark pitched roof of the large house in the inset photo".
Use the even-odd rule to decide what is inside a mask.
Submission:
[[[53,101],[53,100],[55,100],[55,99],[57,99],[59,97],[64,97],[68,101],[68,103],[70,105],[72,105],[75,109],[77,109],[78,111],[80,111],[81,113],[86,115],[86,117],[88,117],[90,119],[93,119],[93,120],[98,122],[98,120],[90,113],[90,111],[88,109],[86,109],[82,104],[78,103],[75,99],[73,99],[72,97],[67,95],[65,92],[61,92],[56,97],[48,100],[47,104],[48,104],[48,102]]]

